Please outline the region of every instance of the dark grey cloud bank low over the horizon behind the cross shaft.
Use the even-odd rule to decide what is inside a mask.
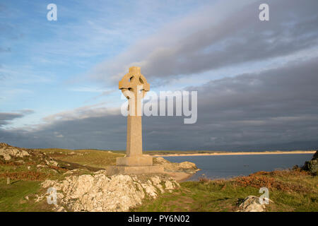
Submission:
[[[143,117],[146,150],[295,150],[318,148],[318,59],[190,87],[198,121]],[[33,132],[0,131],[1,140],[33,148],[124,150],[126,117],[54,121]]]

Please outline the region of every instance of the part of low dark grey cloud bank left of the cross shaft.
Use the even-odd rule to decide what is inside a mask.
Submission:
[[[126,118],[121,115],[57,121],[38,131],[1,130],[1,142],[29,148],[125,149]]]

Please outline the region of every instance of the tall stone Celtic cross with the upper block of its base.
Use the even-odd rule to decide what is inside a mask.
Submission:
[[[132,66],[129,73],[119,81],[119,90],[129,100],[129,114],[127,116],[126,157],[118,157],[118,166],[151,166],[153,158],[143,155],[141,99],[149,91],[150,85],[141,74],[140,67]]]

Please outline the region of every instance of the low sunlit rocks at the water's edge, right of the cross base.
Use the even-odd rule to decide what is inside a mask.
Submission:
[[[193,162],[169,162],[163,157],[156,157],[153,160],[154,165],[162,165],[167,172],[187,172],[193,174],[199,170]]]

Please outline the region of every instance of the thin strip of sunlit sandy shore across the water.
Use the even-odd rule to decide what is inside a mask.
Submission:
[[[265,151],[265,152],[237,152],[237,153],[194,153],[194,154],[167,154],[167,155],[151,155],[153,157],[165,156],[204,156],[204,155],[282,155],[282,154],[314,154],[315,150],[304,151]]]

